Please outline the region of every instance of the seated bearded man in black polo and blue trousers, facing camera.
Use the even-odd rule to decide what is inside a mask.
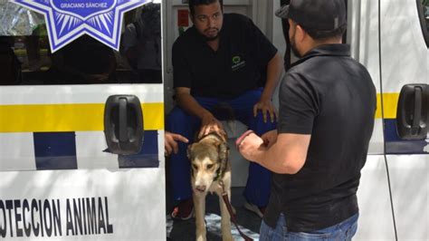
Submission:
[[[176,108],[167,130],[190,142],[195,133],[224,131],[211,109],[227,103],[234,117],[262,135],[276,127],[272,92],[281,75],[281,56],[253,22],[241,14],[224,14],[222,0],[189,0],[193,26],[173,45]],[[264,72],[264,73],[263,73]],[[262,77],[265,76],[265,77]],[[172,217],[192,217],[190,162],[187,144],[170,158]],[[270,195],[271,172],[251,163],[245,207],[262,217]]]

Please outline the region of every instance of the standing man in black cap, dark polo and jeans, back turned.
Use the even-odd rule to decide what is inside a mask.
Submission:
[[[277,131],[238,143],[246,159],[274,172],[261,240],[350,240],[357,190],[374,127],[376,89],[341,44],[344,0],[291,0],[294,63],[281,82]]]

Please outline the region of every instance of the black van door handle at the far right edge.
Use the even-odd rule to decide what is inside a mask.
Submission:
[[[396,111],[399,137],[424,140],[427,135],[429,88],[427,84],[407,84],[400,94]]]

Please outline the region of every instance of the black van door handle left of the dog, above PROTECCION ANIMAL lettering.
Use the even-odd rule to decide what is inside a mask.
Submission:
[[[143,145],[143,111],[135,95],[112,95],[104,108],[104,136],[109,151],[138,154]]]

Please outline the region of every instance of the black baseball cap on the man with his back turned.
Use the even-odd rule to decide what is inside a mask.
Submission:
[[[275,14],[281,18],[291,18],[306,30],[333,31],[347,25],[344,0],[291,0],[290,5],[282,5]]]

